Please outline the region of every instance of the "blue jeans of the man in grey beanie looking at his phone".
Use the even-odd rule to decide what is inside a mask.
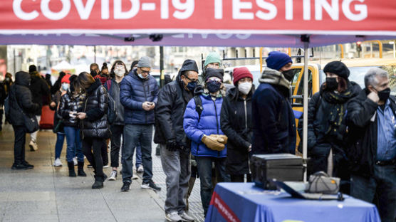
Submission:
[[[152,179],[152,125],[125,125],[124,126],[124,147],[122,150],[123,162],[123,182],[132,182],[133,176],[133,153],[135,147],[140,143],[142,148],[143,183],[147,184]]]

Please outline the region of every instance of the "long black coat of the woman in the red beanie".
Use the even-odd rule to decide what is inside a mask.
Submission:
[[[249,174],[249,146],[251,145],[251,97],[252,87],[244,100],[238,88],[232,88],[224,97],[220,125],[229,138],[227,142],[226,173],[231,175]],[[237,98],[236,98],[237,97]]]

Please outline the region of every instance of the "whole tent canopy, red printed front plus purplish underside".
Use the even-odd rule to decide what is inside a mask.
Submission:
[[[385,0],[12,0],[0,6],[0,43],[302,47],[306,34],[325,46],[395,38],[395,9]]]

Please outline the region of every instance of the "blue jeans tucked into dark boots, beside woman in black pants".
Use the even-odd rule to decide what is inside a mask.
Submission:
[[[73,162],[73,157],[77,154],[78,162],[84,162],[84,154],[82,150],[82,144],[80,140],[80,129],[75,127],[64,127],[66,134],[66,160],[67,162]]]

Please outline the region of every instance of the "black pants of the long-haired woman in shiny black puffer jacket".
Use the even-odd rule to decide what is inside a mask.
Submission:
[[[83,138],[83,153],[95,170],[96,176],[103,176],[102,147],[105,139],[97,137]]]

